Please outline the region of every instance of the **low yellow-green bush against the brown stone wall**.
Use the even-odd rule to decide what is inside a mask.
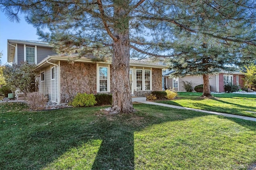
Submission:
[[[73,107],[94,106],[97,103],[95,99],[96,97],[93,94],[77,93],[70,105]]]

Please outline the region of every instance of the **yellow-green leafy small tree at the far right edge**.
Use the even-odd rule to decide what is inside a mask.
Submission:
[[[252,64],[245,66],[246,73],[244,77],[244,87],[255,88],[256,87],[256,65]]]

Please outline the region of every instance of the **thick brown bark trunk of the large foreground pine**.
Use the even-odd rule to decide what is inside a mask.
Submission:
[[[127,1],[128,2],[128,1]],[[122,18],[124,14],[122,7],[116,9],[116,16]],[[124,20],[123,20],[124,21]],[[130,89],[129,71],[130,71],[130,42],[129,21],[124,21],[124,26],[114,31],[116,40],[113,41],[113,59],[112,59],[112,95],[113,103],[110,113],[132,113],[132,93]],[[118,27],[118,26],[117,26]]]

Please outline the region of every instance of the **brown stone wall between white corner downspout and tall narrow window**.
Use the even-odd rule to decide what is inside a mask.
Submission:
[[[60,62],[60,103],[66,103],[77,93],[96,94],[96,64]]]

